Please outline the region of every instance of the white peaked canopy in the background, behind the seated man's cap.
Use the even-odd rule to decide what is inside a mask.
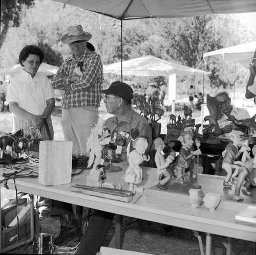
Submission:
[[[169,62],[154,56],[134,58],[123,61],[122,64],[123,75],[169,76],[176,73],[177,76],[182,76],[193,73],[204,73],[202,70]],[[103,73],[121,75],[121,62],[104,65]]]

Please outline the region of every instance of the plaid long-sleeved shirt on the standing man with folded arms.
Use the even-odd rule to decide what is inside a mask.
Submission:
[[[82,62],[82,76],[70,82],[78,62]],[[78,67],[79,68],[79,67]],[[79,68],[80,69],[80,68]],[[103,67],[100,56],[86,49],[81,57],[70,56],[61,64],[58,72],[51,79],[54,89],[65,90],[62,109],[70,107],[96,106],[100,104],[100,89],[103,81]]]

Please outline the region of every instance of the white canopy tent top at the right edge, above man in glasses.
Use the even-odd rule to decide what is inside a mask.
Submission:
[[[223,48],[216,51],[204,53],[204,59],[207,57],[215,57],[226,61],[239,61],[242,64],[251,63],[251,57],[256,50],[256,41],[238,44],[232,47]]]

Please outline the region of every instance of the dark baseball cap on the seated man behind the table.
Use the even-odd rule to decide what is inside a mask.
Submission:
[[[121,81],[114,81],[108,89],[102,89],[100,92],[103,94],[117,95],[129,101],[133,99],[133,89],[128,84]]]

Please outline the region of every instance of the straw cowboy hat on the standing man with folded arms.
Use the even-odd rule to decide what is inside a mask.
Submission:
[[[66,44],[78,44],[85,41],[89,41],[92,35],[82,30],[82,26],[71,26],[68,27],[68,33],[63,35],[61,41]]]

